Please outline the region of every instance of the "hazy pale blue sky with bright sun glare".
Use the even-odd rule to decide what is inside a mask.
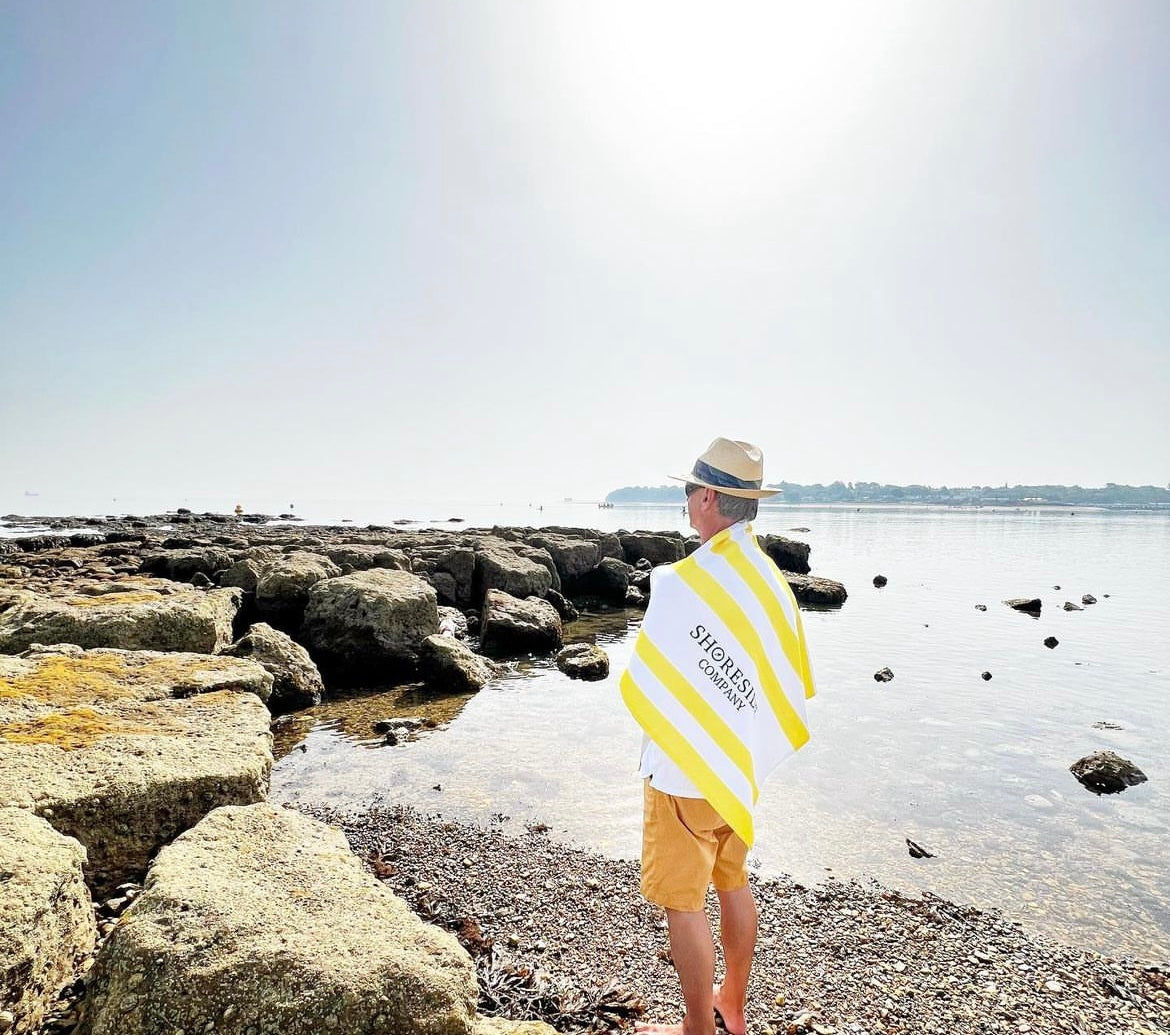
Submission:
[[[0,0],[0,506],[1170,482],[1164,0]]]

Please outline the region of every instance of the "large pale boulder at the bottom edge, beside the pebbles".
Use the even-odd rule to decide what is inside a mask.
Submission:
[[[342,834],[221,808],[159,853],[89,979],[78,1035],[469,1035],[455,939],[363,870]]]

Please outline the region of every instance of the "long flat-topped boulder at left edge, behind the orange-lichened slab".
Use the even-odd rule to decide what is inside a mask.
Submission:
[[[34,643],[76,643],[214,654],[232,642],[239,589],[164,587],[168,592],[140,586],[63,596],[0,592],[0,653],[19,654]]]

